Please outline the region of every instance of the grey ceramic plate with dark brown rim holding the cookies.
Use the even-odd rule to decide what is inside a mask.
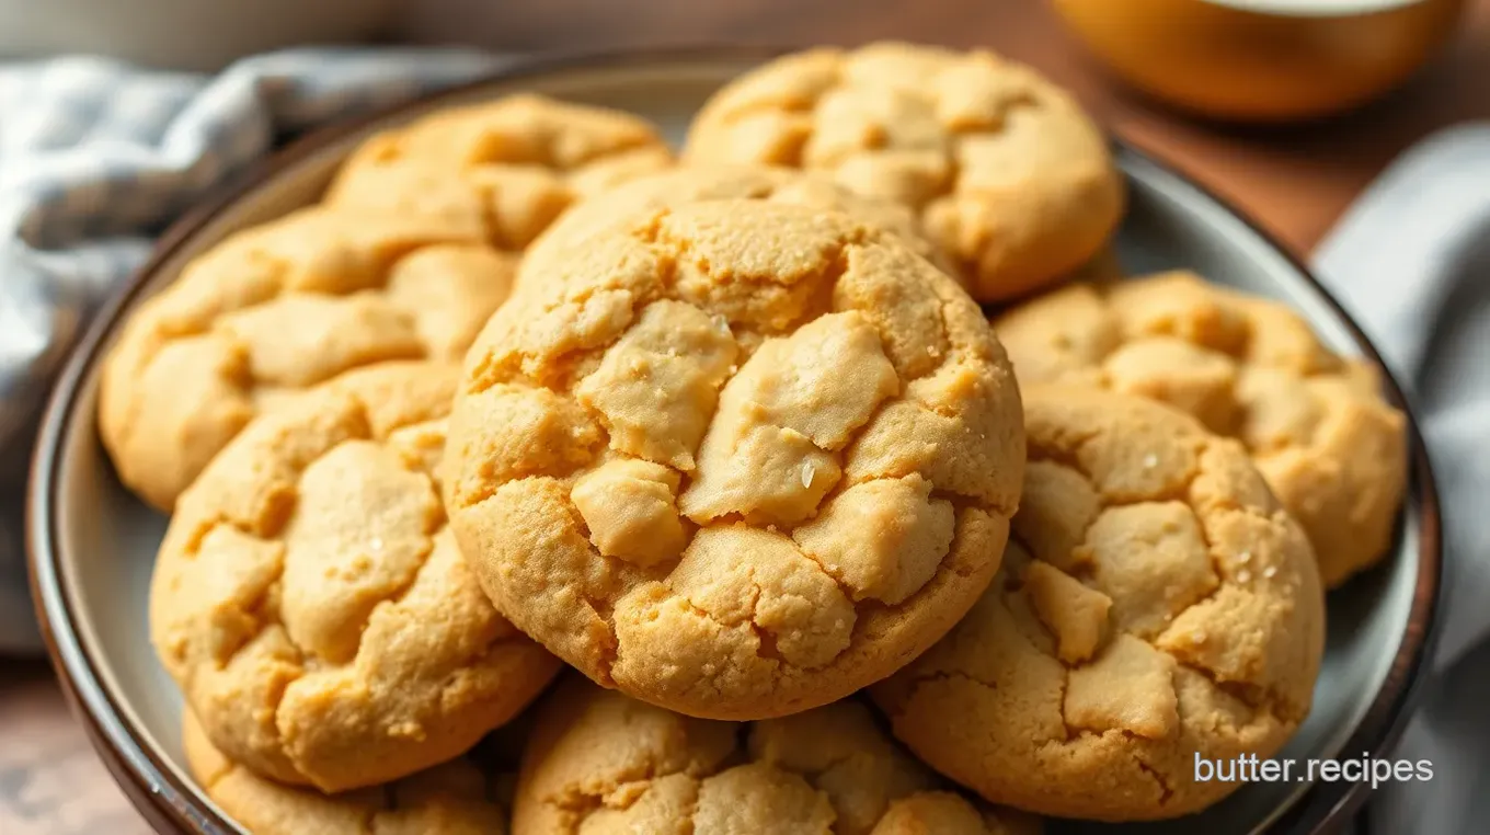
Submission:
[[[235,832],[182,765],[180,696],[146,637],[146,589],[165,519],[115,479],[94,420],[98,359],[119,322],[170,283],[194,255],[246,225],[308,203],[337,163],[374,130],[432,107],[527,89],[627,109],[682,139],[705,97],[763,52],[693,51],[547,60],[475,85],[314,134],[259,177],[182,221],[137,282],[94,322],[54,392],[31,477],[33,584],[48,640],[79,717],[136,805],[164,832]],[[1129,271],[1192,267],[1302,312],[1344,353],[1377,359],[1360,331],[1280,248],[1165,166],[1122,148],[1132,209],[1119,237]],[[1390,397],[1401,401],[1393,383]],[[1331,598],[1329,649],[1314,713],[1281,756],[1380,752],[1395,738],[1427,650],[1439,576],[1438,508],[1427,459],[1413,432],[1413,483],[1392,558]],[[1134,832],[1237,835],[1266,828],[1320,831],[1359,805],[1360,786],[1252,784],[1191,819]],[[1115,831],[1061,825],[1062,831]]]

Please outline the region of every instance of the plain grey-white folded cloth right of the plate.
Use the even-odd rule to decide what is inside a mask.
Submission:
[[[1320,246],[1319,273],[1414,389],[1444,513],[1444,593],[1424,705],[1371,832],[1483,832],[1490,820],[1490,125],[1398,160]],[[1377,753],[1377,752],[1372,752]]]

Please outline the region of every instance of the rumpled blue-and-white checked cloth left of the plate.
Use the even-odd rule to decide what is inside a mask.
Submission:
[[[36,419],[150,239],[277,137],[489,73],[451,49],[295,49],[216,78],[97,58],[0,64],[0,652],[39,649],[21,497]]]

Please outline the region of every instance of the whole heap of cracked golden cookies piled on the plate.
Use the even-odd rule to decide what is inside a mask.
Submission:
[[[681,166],[526,95],[367,142],[107,365],[192,771],[258,835],[1219,801],[1193,757],[1278,750],[1320,576],[1386,550],[1402,416],[1272,303],[1092,277],[1122,204],[1064,91],[904,45],[741,78]]]

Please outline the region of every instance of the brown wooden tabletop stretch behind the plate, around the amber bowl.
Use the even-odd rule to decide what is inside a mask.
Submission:
[[[1074,89],[1110,127],[1161,154],[1308,252],[1404,148],[1490,119],[1490,0],[1469,0],[1447,52],[1408,86],[1344,118],[1284,128],[1199,124],[1109,79],[1043,0],[422,0],[414,39],[502,49],[678,43],[863,43],[881,37],[991,46]]]

